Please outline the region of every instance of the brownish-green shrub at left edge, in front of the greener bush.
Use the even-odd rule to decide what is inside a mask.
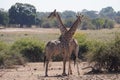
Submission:
[[[24,58],[17,53],[9,50],[0,53],[0,68],[11,68],[13,65],[25,64]]]

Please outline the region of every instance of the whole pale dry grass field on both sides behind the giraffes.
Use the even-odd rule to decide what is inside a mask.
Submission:
[[[100,41],[111,41],[116,34],[120,34],[120,29],[102,29],[102,30],[77,30],[78,33],[87,35],[87,39],[94,39]],[[0,30],[0,40],[11,43],[21,38],[36,38],[47,42],[49,40],[57,39],[60,35],[58,29],[44,29],[44,28],[6,28]]]

